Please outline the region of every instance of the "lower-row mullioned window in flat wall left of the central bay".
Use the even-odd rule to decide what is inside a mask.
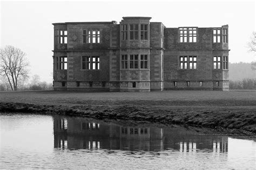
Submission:
[[[82,70],[99,69],[99,56],[82,56]]]

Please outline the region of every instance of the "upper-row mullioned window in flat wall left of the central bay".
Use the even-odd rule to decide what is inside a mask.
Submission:
[[[100,31],[83,30],[83,43],[100,43]]]

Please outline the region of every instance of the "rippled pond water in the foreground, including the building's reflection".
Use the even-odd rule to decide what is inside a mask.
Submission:
[[[255,168],[256,142],[211,130],[0,115],[0,168]]]

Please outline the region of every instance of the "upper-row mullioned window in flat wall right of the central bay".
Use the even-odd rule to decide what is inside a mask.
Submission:
[[[196,43],[197,42],[197,28],[179,28],[179,42],[180,43]]]

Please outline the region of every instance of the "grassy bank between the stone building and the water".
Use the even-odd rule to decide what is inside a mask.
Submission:
[[[256,133],[256,91],[1,92],[0,112],[146,120]]]

